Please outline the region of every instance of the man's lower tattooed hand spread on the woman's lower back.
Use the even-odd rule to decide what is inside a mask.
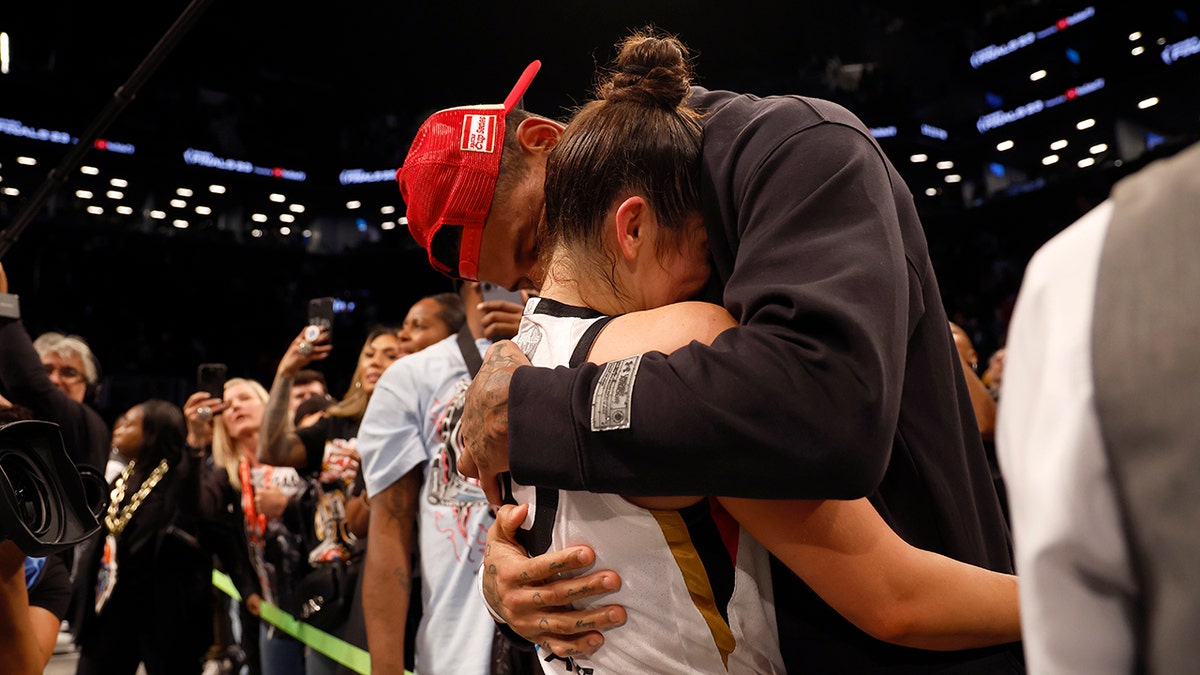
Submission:
[[[528,504],[506,504],[497,512],[484,552],[484,599],[518,635],[547,651],[560,657],[595,653],[604,645],[600,631],[623,625],[625,609],[602,605],[576,610],[570,603],[620,589],[620,577],[601,569],[559,578],[562,572],[586,569],[595,562],[589,546],[528,557],[515,539],[528,510]]]

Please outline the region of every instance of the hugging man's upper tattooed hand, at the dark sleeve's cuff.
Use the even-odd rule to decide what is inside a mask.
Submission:
[[[467,389],[462,412],[458,471],[479,478],[493,504],[500,503],[498,477],[509,470],[509,383],[522,365],[529,365],[529,359],[512,342],[502,340],[488,347],[479,375]]]

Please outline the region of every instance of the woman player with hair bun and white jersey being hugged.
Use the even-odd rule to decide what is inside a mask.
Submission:
[[[515,342],[538,366],[606,364],[594,430],[628,428],[616,393],[641,354],[709,344],[737,323],[718,305],[685,301],[710,263],[701,118],[685,104],[684,54],[677,40],[650,32],[625,41],[546,166],[545,279]],[[710,405],[698,392],[679,395]],[[511,491],[520,506],[504,507],[498,524],[532,555],[589,544],[592,569],[623,580],[575,609],[619,604],[626,625],[606,632],[590,657],[546,640],[546,673],[782,673],[768,550],[877,639],[964,650],[1020,638],[1014,577],[910,546],[865,498],[623,497],[515,483]],[[484,590],[494,591],[494,568]]]

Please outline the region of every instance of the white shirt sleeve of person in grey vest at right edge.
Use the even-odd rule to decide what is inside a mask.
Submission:
[[[1092,317],[1112,203],[1051,239],[1008,333],[996,454],[1028,673],[1127,674],[1135,585],[1094,405]]]

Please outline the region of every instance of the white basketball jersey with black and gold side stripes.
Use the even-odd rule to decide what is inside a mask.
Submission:
[[[572,354],[574,362],[584,360],[606,321],[593,310],[534,298],[515,341],[534,365],[570,365]],[[629,616],[605,632],[594,656],[545,661],[539,651],[545,673],[785,671],[767,551],[720,507],[714,519],[708,500],[683,510],[652,510],[617,495],[517,484],[512,492],[530,504],[522,525],[527,540],[548,543],[547,550],[588,544],[596,554],[592,569],[620,574],[619,591],[575,608],[620,604]],[[536,552],[544,551],[530,550]]]

